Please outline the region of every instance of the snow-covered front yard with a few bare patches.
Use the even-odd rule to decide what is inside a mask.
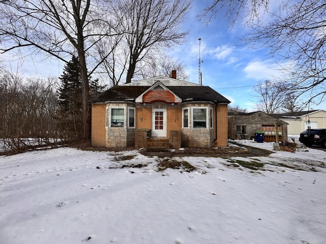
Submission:
[[[1,156],[0,243],[326,242],[326,152],[173,158],[191,172],[159,171],[162,160],[68,147]]]

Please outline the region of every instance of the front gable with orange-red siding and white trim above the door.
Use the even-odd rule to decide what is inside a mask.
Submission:
[[[182,99],[175,95],[168,87],[162,84],[160,81],[156,81],[151,87],[149,87],[143,94],[135,99],[137,103],[153,103],[153,102],[165,102],[165,103],[180,103]]]

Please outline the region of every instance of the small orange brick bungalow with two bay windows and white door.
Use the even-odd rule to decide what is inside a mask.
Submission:
[[[92,145],[138,148],[165,138],[170,148],[227,146],[229,103],[209,86],[176,79],[176,71],[114,86],[90,101]]]

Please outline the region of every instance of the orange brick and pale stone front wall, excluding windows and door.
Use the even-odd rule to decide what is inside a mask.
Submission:
[[[105,127],[106,106],[128,107],[135,106],[135,128]],[[108,103],[92,104],[92,145],[107,147],[128,147],[135,145],[135,130],[152,129],[152,109],[164,108],[167,110],[167,137],[171,131],[182,131],[182,145],[188,147],[227,146],[228,116],[227,105],[217,105],[217,140],[215,136],[215,104],[212,103],[185,103],[185,104],[133,104],[133,103]],[[189,108],[189,128],[182,128],[182,107]],[[212,128],[192,128],[191,110],[193,107],[212,109]],[[208,111],[209,112],[209,111]],[[125,112],[127,116],[127,112]],[[206,121],[209,127],[209,119]]]

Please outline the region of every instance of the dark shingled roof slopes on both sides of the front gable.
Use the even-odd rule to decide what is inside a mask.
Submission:
[[[211,101],[214,103],[230,103],[228,99],[223,97],[218,92],[215,92],[209,86],[167,86],[175,95],[186,101]],[[90,102],[105,102],[105,101],[134,101],[137,97],[143,94],[150,86],[113,86]]]

